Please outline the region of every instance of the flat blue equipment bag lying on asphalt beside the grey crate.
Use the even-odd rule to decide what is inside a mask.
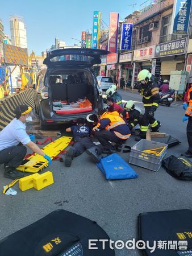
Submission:
[[[97,163],[99,170],[107,180],[134,179],[136,172],[116,153],[102,158]]]

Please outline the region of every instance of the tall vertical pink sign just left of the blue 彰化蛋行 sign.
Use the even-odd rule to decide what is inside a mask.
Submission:
[[[108,35],[108,51],[116,52],[118,44],[118,24],[119,24],[119,14],[110,13],[110,27]]]

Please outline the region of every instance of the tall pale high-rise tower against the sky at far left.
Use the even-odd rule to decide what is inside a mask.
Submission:
[[[24,19],[21,16],[9,17],[11,30],[11,43],[13,46],[27,48],[27,33]]]

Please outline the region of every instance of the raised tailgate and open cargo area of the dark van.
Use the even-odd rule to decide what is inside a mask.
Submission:
[[[110,52],[100,49],[56,49],[47,53],[53,112],[76,114],[91,112],[97,104],[97,88],[90,67],[101,63],[101,55]]]

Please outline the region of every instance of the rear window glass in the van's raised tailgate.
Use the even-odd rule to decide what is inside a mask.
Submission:
[[[91,56],[85,56],[85,55],[61,55],[61,56],[56,56],[50,59],[50,61],[69,61],[69,60],[76,60],[76,61],[85,61],[91,63],[91,61],[94,59],[94,57]]]

